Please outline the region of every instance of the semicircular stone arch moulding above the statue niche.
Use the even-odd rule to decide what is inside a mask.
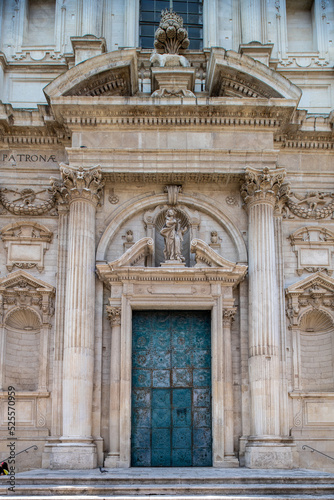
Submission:
[[[155,208],[157,205],[165,204],[166,195],[158,194],[149,196],[144,200],[142,198],[135,201],[131,200],[122,207],[119,207],[119,209],[112,214],[113,217],[101,236],[96,251],[96,261],[105,261],[109,243],[117,233],[117,231],[119,231],[124,222],[131,219],[136,213],[138,213],[138,211],[149,210],[150,208]],[[225,213],[223,213],[219,208],[215,207],[211,203],[208,203],[207,201],[203,201],[200,199],[194,200],[192,197],[184,194],[179,195],[179,204],[208,214],[219,224],[221,224],[236,246],[238,252],[238,262],[247,262],[247,249],[242,234]]]

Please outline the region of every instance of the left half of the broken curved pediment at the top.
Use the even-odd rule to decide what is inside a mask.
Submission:
[[[74,66],[44,88],[54,97],[131,96],[137,90],[135,49],[116,50]]]

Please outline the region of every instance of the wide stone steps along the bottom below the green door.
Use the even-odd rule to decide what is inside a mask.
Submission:
[[[26,500],[334,500],[334,475],[318,471],[249,469],[35,470],[0,478],[0,498]]]

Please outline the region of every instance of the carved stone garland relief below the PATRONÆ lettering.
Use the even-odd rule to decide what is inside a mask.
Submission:
[[[43,215],[55,209],[57,198],[50,189],[0,189],[0,202],[14,215]],[[57,215],[56,211],[51,215]]]

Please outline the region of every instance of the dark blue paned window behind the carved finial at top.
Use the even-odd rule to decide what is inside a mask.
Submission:
[[[203,1],[174,0],[141,0],[139,37],[143,49],[153,49],[154,33],[160,23],[161,11],[169,9],[183,18],[184,27],[188,31],[190,49],[199,50],[203,47]]]

